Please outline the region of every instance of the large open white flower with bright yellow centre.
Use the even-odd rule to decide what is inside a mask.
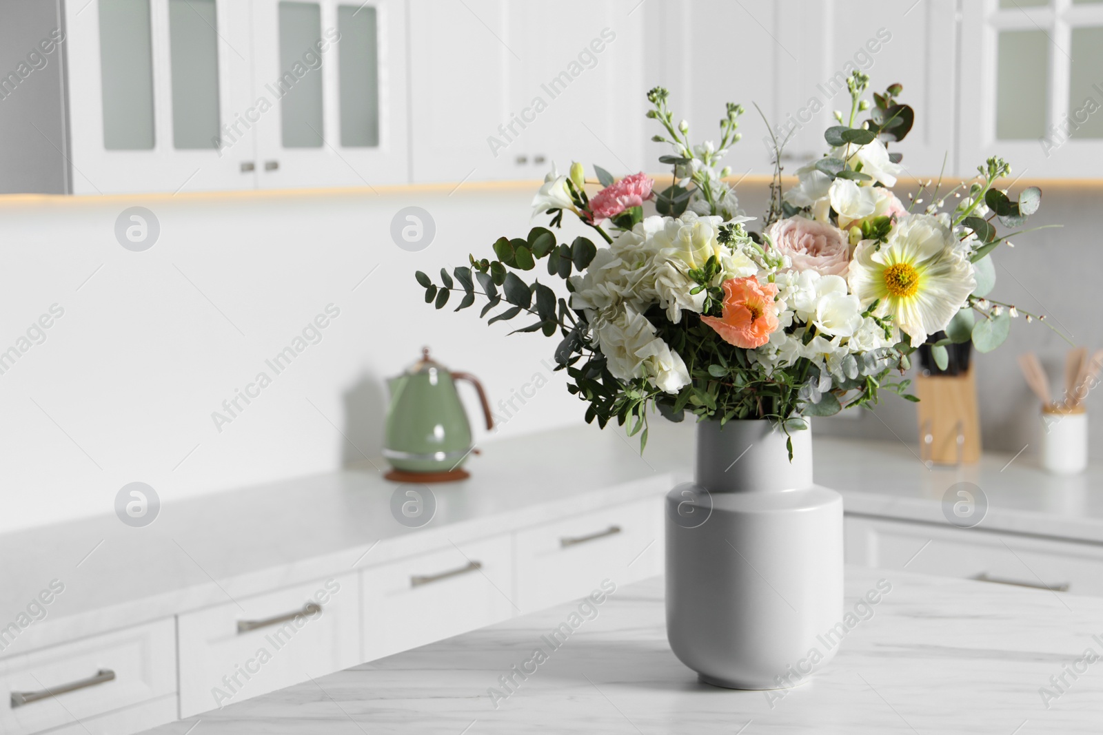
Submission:
[[[849,282],[863,305],[880,300],[877,316],[891,315],[912,347],[944,329],[976,288],[973,266],[953,233],[930,215],[901,218],[880,248],[859,242]]]

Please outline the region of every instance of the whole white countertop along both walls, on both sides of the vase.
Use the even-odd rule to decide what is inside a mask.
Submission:
[[[660,494],[689,478],[693,433],[688,421],[655,420],[642,457],[622,431],[587,424],[489,442],[469,463],[471,479],[433,487],[437,516],[420,529],[395,521],[398,485],[365,465],[167,504],[146,528],[107,515],[3,534],[0,621],[51,580],[65,593],[0,657],[384,563],[446,545],[446,537],[476,539]],[[1025,457],[988,454],[976,466],[928,469],[913,448],[820,434],[815,478],[843,494],[848,514],[936,523],[942,494],[968,480],[989,501],[982,528],[1103,543],[1100,467],[1056,477]]]

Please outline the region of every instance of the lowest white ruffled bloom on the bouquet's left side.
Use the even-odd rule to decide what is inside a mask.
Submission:
[[[647,378],[667,393],[688,385],[689,371],[682,357],[656,337],[654,325],[631,306],[612,320],[600,320],[596,333],[614,378]]]

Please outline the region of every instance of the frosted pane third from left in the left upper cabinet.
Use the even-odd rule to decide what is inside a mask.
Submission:
[[[279,90],[283,148],[322,145],[322,67],[314,44],[322,37],[317,2],[279,3]]]

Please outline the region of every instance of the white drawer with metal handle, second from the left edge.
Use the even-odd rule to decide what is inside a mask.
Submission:
[[[179,620],[184,717],[360,663],[355,573],[243,597]]]

